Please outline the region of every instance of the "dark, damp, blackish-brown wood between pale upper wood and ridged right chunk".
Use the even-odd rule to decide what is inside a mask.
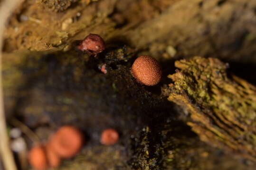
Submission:
[[[61,125],[80,127],[87,137],[83,151],[58,170],[254,170],[200,142],[177,118],[174,105],[156,95],[161,85],[138,84],[130,73],[133,55],[127,47],[95,59],[76,50],[5,54],[9,122],[19,118],[42,141]],[[107,74],[98,68],[103,63]],[[119,130],[119,144],[99,143],[106,127]]]

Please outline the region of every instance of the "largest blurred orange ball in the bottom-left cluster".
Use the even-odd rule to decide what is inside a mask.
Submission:
[[[59,157],[71,158],[79,152],[83,141],[84,136],[79,129],[73,126],[63,126],[52,136],[49,145]]]

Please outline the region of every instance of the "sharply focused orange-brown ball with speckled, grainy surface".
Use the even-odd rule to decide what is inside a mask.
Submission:
[[[144,85],[157,85],[162,76],[159,62],[150,56],[137,58],[131,69],[132,75],[139,83]]]

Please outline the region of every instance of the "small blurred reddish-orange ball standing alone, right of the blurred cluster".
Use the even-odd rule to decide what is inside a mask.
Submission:
[[[101,143],[104,145],[116,144],[118,139],[119,139],[119,134],[113,128],[105,129],[101,134]]]

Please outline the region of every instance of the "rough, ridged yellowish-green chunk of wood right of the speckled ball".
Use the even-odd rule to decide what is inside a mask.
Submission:
[[[174,83],[163,92],[190,111],[201,140],[256,161],[256,87],[228,75],[228,64],[194,57],[175,62]]]

